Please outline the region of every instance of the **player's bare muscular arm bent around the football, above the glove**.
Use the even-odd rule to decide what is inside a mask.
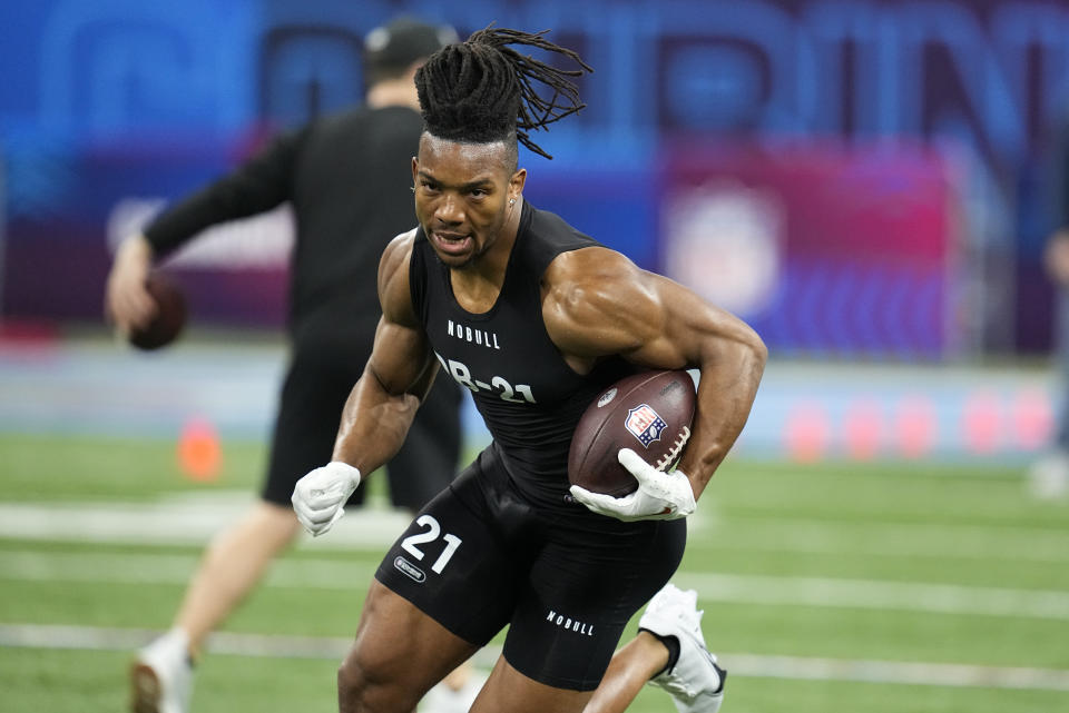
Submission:
[[[618,354],[655,369],[699,370],[693,435],[678,464],[700,496],[742,432],[767,349],[734,315],[606,248],[560,255],[543,276],[543,318],[572,368]]]

